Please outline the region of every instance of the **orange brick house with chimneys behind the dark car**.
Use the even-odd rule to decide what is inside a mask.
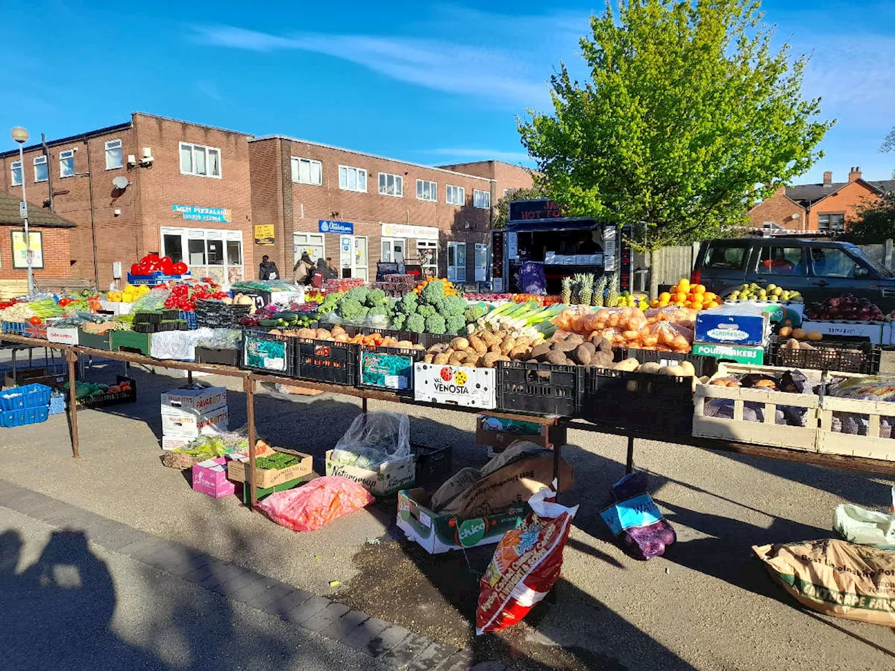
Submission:
[[[895,180],[865,180],[860,167],[851,169],[848,182],[833,182],[828,170],[823,183],[781,186],[749,210],[749,218],[756,228],[842,231],[857,215],[857,208],[888,191],[895,191]]]

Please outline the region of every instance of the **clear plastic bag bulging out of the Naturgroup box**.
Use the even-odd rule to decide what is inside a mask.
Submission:
[[[398,412],[362,412],[339,438],[332,461],[375,469],[410,456],[410,420]]]

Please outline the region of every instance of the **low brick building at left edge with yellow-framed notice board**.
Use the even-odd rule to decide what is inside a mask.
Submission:
[[[28,290],[25,228],[19,217],[20,198],[0,193],[0,299],[20,296]],[[69,284],[69,239],[75,225],[29,203],[31,269],[41,288]]]

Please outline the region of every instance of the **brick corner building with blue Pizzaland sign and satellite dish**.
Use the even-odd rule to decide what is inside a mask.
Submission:
[[[249,137],[134,113],[127,123],[32,144],[24,166],[18,150],[0,154],[0,189],[18,197],[24,179],[33,212],[50,211],[52,187],[52,211],[77,225],[69,273],[101,288],[115,261],[126,274],[149,251],[183,260],[194,276],[233,280],[254,266]]]

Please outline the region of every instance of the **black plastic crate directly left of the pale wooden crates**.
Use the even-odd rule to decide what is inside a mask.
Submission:
[[[693,378],[586,369],[578,417],[657,435],[693,432]]]

